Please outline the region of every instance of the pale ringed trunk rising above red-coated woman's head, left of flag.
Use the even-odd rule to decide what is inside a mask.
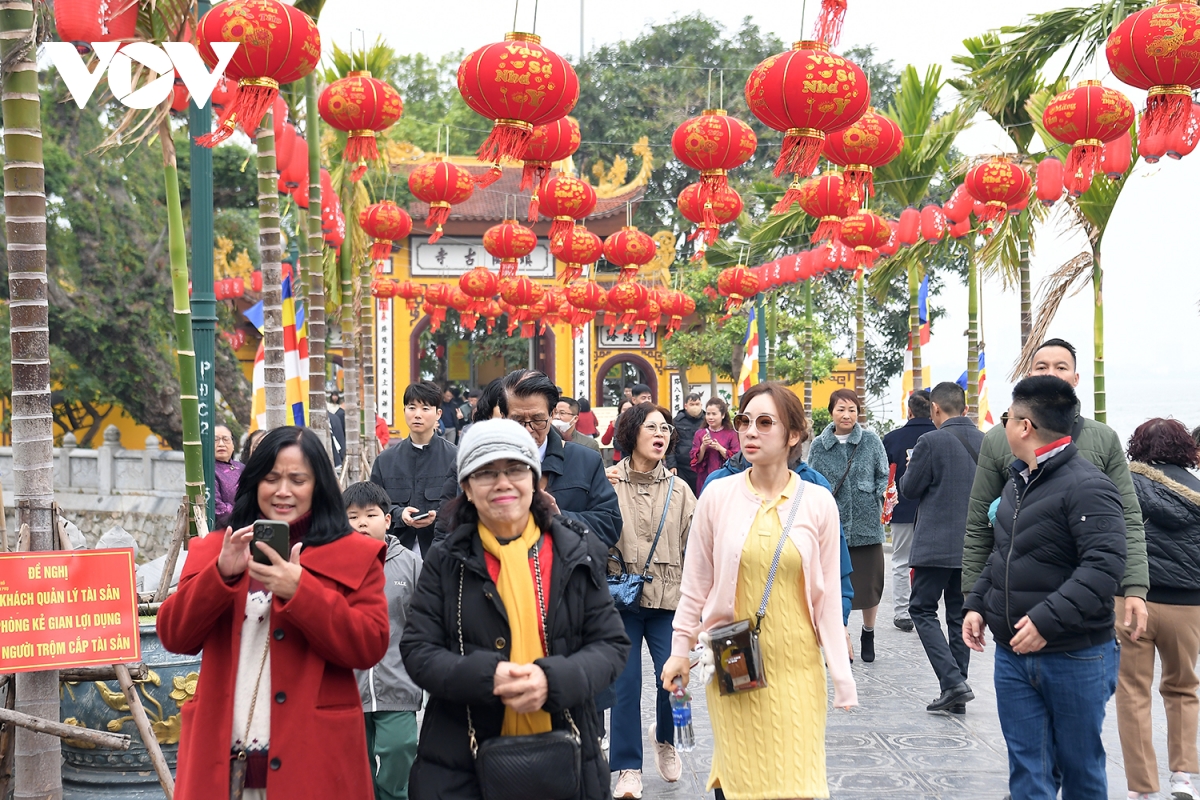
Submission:
[[[287,368],[283,366],[283,246],[280,239],[280,191],[275,164],[274,112],[258,127],[258,251],[263,270],[263,378],[266,429],[290,425]]]

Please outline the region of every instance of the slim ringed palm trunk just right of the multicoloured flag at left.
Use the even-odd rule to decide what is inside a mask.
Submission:
[[[310,73],[304,79],[305,136],[314,143],[308,148],[308,229],[305,270],[308,272],[308,427],[325,443],[325,452],[334,457],[334,441],[329,434],[329,413],[325,409],[325,265],[320,234],[320,116],[317,113],[317,78]]]

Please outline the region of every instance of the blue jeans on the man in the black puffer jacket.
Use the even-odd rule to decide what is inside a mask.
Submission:
[[[1019,656],[996,648],[1000,727],[1008,744],[1008,788],[1021,800],[1105,800],[1104,706],[1117,687],[1115,640],[1073,652]],[[1057,770],[1056,770],[1057,768]]]

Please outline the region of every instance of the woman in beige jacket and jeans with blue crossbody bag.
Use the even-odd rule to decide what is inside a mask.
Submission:
[[[696,498],[683,479],[676,479],[664,459],[674,452],[677,432],[670,411],[641,403],[617,420],[617,446],[628,452],[608,470],[624,521],[608,572],[647,576],[637,607],[622,610],[625,633],[632,643],[625,670],[617,679],[612,708],[610,768],[618,772],[614,798],[642,796],[642,639],[650,650],[654,674],[671,656],[671,621],[679,604],[683,554],[688,546]],[[673,746],[671,696],[656,692],[655,723],[647,734],[654,744],[654,765],[667,783],[683,774]]]

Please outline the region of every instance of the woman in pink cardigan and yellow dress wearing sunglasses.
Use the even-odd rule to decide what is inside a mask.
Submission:
[[[767,686],[728,696],[715,681],[707,686],[714,738],[708,789],[728,800],[828,798],[827,664],[834,705],[858,704],[841,622],[838,505],[828,489],[800,482],[790,468],[808,437],[796,395],[782,384],[757,384],[742,396],[740,410],[733,427],[751,467],[715,481],[696,505],[662,687],[688,686],[688,654],[707,638],[702,631],[754,624],[779,548],[760,630]]]

